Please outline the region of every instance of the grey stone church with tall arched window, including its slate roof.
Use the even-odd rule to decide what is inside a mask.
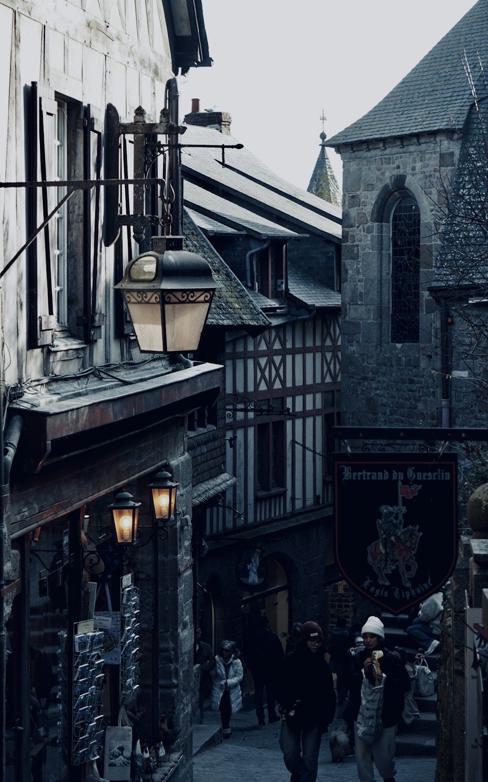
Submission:
[[[476,276],[467,260],[452,264],[463,210],[463,246],[472,240],[466,186],[488,168],[487,26],[479,0],[386,98],[325,142],[343,160],[344,425],[484,425],[486,400],[472,392],[485,368],[460,346],[465,305],[486,300],[486,268]],[[486,181],[469,186],[479,206]]]

